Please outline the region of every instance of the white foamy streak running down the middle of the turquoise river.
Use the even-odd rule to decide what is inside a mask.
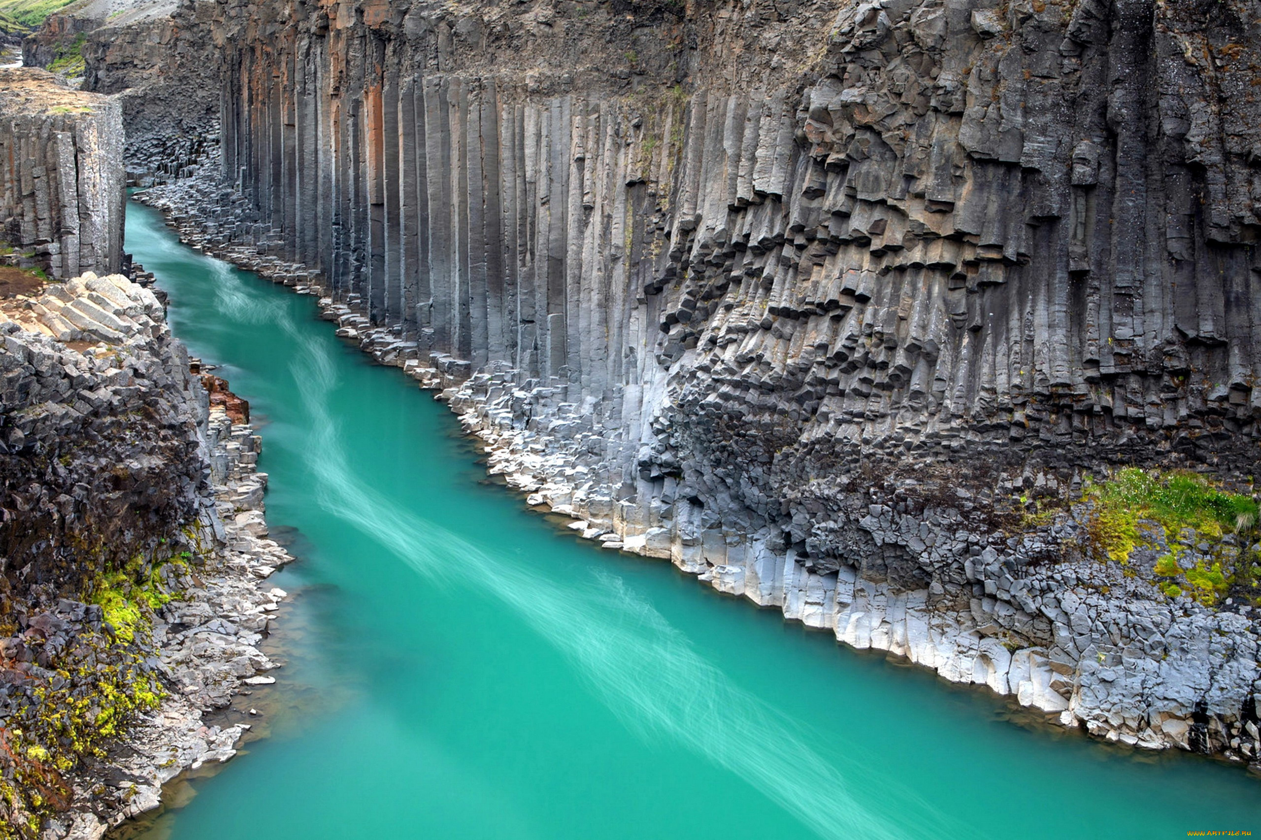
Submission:
[[[330,515],[434,581],[473,584],[494,595],[575,662],[629,729],[671,738],[731,771],[821,837],[924,836],[926,817],[938,836],[957,827],[918,796],[868,776],[870,766],[850,759],[842,774],[806,744],[798,725],[735,686],[615,575],[601,573],[585,584],[549,580],[496,560],[366,486],[327,410],[337,376],[328,346],[288,319],[280,323],[300,346],[293,373],[313,425],[317,498]],[[876,814],[860,797],[900,812]]]

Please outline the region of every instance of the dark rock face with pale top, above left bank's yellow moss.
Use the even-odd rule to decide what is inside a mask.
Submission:
[[[81,594],[105,570],[178,539],[204,507],[206,409],[183,346],[142,332],[163,323],[153,293],[87,277],[8,314],[10,332],[29,322],[48,335],[10,342],[4,354],[0,483],[9,515],[0,554],[6,592],[19,599]],[[156,339],[145,349],[159,352],[83,354],[58,344],[84,339]]]

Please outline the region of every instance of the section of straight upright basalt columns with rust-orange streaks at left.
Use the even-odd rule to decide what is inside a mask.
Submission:
[[[641,169],[677,149],[643,160],[614,102],[400,64],[362,33],[232,55],[224,168],[284,256],[424,348],[596,396],[622,383],[652,339],[632,275],[665,251]]]

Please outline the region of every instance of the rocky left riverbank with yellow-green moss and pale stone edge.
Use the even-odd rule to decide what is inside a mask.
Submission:
[[[209,404],[153,291],[88,274],[0,310],[0,834],[95,839],[235,753],[243,726],[207,716],[274,682],[257,645],[290,557],[259,436]]]

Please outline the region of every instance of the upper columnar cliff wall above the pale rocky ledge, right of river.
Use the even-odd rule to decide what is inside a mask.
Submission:
[[[1255,24],[1038,6],[224,6],[223,166],[422,348],[663,368],[695,454],[1251,435]]]

